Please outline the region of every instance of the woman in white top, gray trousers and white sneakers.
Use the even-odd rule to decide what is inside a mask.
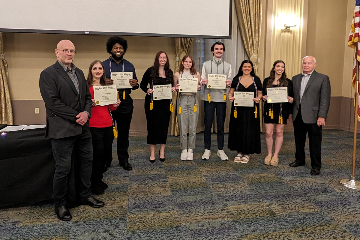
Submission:
[[[174,74],[174,86],[179,91],[179,101],[177,103],[177,122],[180,128],[180,146],[181,160],[193,160],[193,149],[195,148],[196,126],[198,123],[199,110],[196,92],[183,92],[179,84],[180,78],[197,79],[197,90],[200,86],[200,73],[195,69],[194,59],[190,55],[185,55],[179,67],[179,71]],[[191,81],[191,80],[189,80]],[[184,86],[183,86],[184,87]],[[189,128],[189,145],[188,145],[188,128]]]

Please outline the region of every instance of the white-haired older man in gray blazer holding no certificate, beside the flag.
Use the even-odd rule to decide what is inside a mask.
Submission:
[[[305,56],[302,59],[303,72],[292,78],[294,90],[293,115],[289,121],[294,126],[295,161],[290,167],[305,165],[306,132],[309,135],[309,149],[312,170],[318,175],[321,168],[321,128],[325,126],[330,106],[329,77],[316,72],[316,59]]]

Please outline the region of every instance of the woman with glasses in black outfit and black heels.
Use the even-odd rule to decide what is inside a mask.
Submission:
[[[173,87],[174,74],[170,69],[167,54],[159,51],[156,54],[153,67],[148,68],[144,73],[140,83],[140,88],[147,93],[145,96],[145,115],[148,129],[147,143],[150,145],[150,162],[155,162],[155,145],[160,144],[160,160],[165,161],[165,144],[167,131],[169,128],[170,116],[172,112],[172,100],[155,100],[153,96],[153,86],[171,84],[171,91],[175,92]],[[148,87],[149,85],[149,87]]]

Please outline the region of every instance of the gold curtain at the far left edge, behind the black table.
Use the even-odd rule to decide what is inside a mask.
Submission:
[[[0,32],[0,123],[13,125],[13,112],[8,87],[8,64],[4,58],[3,33]]]

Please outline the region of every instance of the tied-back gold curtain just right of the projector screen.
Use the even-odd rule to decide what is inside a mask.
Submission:
[[[260,46],[262,0],[234,0],[240,33],[249,59],[258,75],[257,54]],[[262,129],[262,104],[259,104],[260,129]]]

